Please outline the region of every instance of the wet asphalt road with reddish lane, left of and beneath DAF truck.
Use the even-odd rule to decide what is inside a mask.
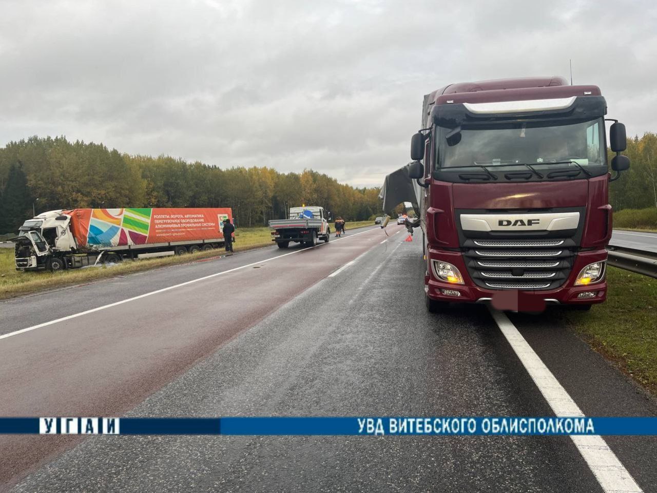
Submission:
[[[552,415],[486,308],[426,312],[421,245],[404,236],[381,244],[374,230],[0,340],[0,395],[14,402],[0,403],[0,414]],[[78,293],[91,293],[79,308],[87,310],[279,254],[268,248],[112,279],[0,310],[3,319],[8,306],[18,312],[7,329],[16,330],[45,321],[32,315],[20,325],[28,303],[67,316],[61,300]],[[654,399],[549,314],[511,319],[587,415],[657,414]],[[70,343],[85,336],[93,354]],[[47,373],[51,392],[39,382]],[[41,456],[5,471],[5,486],[19,481],[16,492],[601,491],[568,437],[20,438],[35,438],[24,452]],[[56,446],[43,448],[46,440]],[[607,440],[643,489],[657,490],[657,440]],[[0,442],[5,463],[7,445]]]

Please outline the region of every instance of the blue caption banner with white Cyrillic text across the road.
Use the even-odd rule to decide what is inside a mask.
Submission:
[[[655,435],[657,417],[0,417],[0,434]]]

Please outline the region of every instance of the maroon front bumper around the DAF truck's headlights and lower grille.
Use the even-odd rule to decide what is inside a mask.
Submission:
[[[456,303],[475,303],[493,300],[504,300],[503,303],[516,296],[516,307],[519,310],[539,308],[545,304],[593,304],[606,300],[607,284],[603,277],[601,281],[587,285],[574,286],[575,279],[581,269],[593,262],[602,262],[607,259],[607,250],[585,250],[578,252],[570,275],[566,282],[557,289],[551,290],[512,290],[512,289],[485,289],[474,284],[468,275],[464,258],[461,252],[429,249],[426,256],[427,273],[424,276],[424,290],[427,296],[434,300]],[[438,279],[431,268],[432,260],[442,260],[453,264],[463,275],[464,285],[452,284]],[[445,294],[443,290],[458,291],[460,296]],[[591,298],[578,298],[579,293],[595,293]],[[508,309],[516,309],[509,306]]]

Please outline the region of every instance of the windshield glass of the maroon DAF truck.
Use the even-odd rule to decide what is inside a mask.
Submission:
[[[602,118],[589,122],[512,122],[463,126],[460,141],[441,129],[439,166],[445,168],[530,164],[547,168],[550,163],[572,166],[606,166]],[[451,131],[454,135],[454,131]],[[451,144],[451,145],[450,145]]]

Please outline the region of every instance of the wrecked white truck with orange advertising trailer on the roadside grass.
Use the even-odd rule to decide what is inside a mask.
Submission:
[[[223,246],[230,208],[54,210],[16,237],[17,270],[61,270],[124,258],[181,255]]]

